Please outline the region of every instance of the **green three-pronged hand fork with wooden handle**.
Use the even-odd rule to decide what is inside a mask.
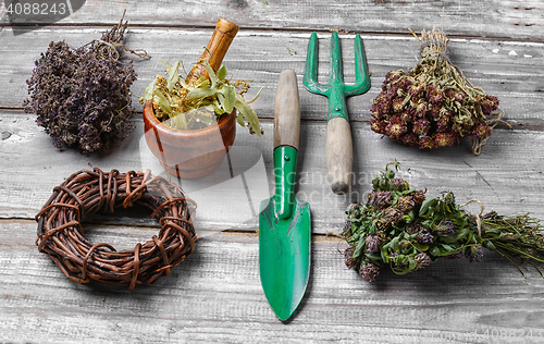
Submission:
[[[333,32],[331,38],[331,72],[329,83],[318,83],[318,35],[311,34],[306,57],[304,75],[306,89],[329,98],[326,113],[326,168],[331,188],[343,195],[351,184],[354,164],[354,147],[351,130],[346,107],[346,97],[362,95],[370,88],[370,75],[361,37],[355,36],[355,84],[344,84],[342,53],[338,33]]]

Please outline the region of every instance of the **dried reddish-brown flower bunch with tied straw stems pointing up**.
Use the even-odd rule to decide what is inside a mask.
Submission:
[[[442,30],[423,30],[418,65],[385,75],[382,91],[372,100],[371,128],[422,149],[453,146],[468,136],[478,156],[503,111],[496,97],[473,86],[450,63],[447,42]]]

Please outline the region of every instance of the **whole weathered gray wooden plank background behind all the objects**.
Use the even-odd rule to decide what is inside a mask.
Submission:
[[[73,15],[37,28],[39,22],[10,23],[3,3],[1,9],[0,343],[543,342],[544,280],[535,271],[522,279],[490,253],[481,263],[441,261],[407,277],[384,273],[369,284],[344,268],[345,244],[326,235],[339,232],[345,208],[364,197],[372,176],[394,159],[412,186],[431,195],[452,189],[457,199],[478,198],[489,210],[544,219],[540,1],[86,1]],[[135,62],[136,130],[106,156],[59,151],[22,110],[34,61],[51,40],[86,44],[116,23],[124,9],[133,25],[125,44],[152,57]],[[238,128],[231,155],[234,179],[224,165],[205,180],[182,182],[199,202],[196,228],[203,238],[171,275],[134,291],[69,281],[38,253],[34,216],[52,187],[77,170],[160,173],[141,140],[137,96],[162,72],[161,60],[189,65],[198,58],[220,16],[240,25],[224,63],[236,78],[252,79],[252,93],[263,87],[255,109],[265,135],[257,138]],[[381,139],[368,125],[370,100],[385,73],[417,63],[418,42],[408,28],[419,33],[442,23],[452,60],[500,99],[514,126],[497,128],[480,157],[468,142],[420,151]],[[344,197],[331,193],[325,177],[326,99],[301,87],[311,30],[321,38],[319,73],[326,81],[331,29],[341,30],[346,81],[354,81],[354,33],[363,38],[372,73],[371,89],[348,100],[356,184]],[[273,100],[286,67],[299,77],[298,196],[310,202],[313,237],[306,297],[295,317],[281,323],[260,286],[255,214],[273,187]],[[240,173],[254,185],[250,199],[238,183]],[[96,217],[86,230],[90,238],[123,248],[147,241],[157,225],[147,217],[119,213]]]

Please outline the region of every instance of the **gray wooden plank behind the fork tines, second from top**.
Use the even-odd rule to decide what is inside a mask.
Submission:
[[[34,61],[47,50],[51,40],[65,39],[81,46],[99,35],[98,28],[44,28],[26,35],[13,36],[10,28],[0,32],[0,107],[21,108],[27,97],[25,81],[32,75]],[[145,48],[152,57],[149,61],[135,62],[138,79],[132,87],[134,107],[141,111],[138,97],[144,88],[163,73],[161,61],[183,59],[188,66],[200,57],[202,47],[211,36],[209,29],[183,30],[161,28],[134,28],[127,34],[126,45]],[[346,83],[355,81],[354,35],[341,35]],[[327,100],[310,94],[302,87],[302,74],[309,34],[242,30],[233,41],[224,64],[235,79],[251,79],[249,97],[260,87],[263,91],[254,103],[260,116],[273,116],[273,105],[279,75],[293,69],[298,75],[302,119],[324,120]],[[319,81],[329,78],[329,38],[320,35]],[[371,89],[348,98],[350,119],[370,120],[371,99],[381,88],[384,75],[391,70],[413,67],[417,64],[418,42],[406,36],[363,36],[371,75]],[[265,41],[267,44],[262,44]],[[258,50],[255,47],[259,47]],[[544,44],[502,41],[490,39],[452,39],[452,60],[466,76],[489,94],[499,98],[506,118],[528,125],[528,120],[543,120],[544,101]],[[542,122],[540,122],[542,123]]]

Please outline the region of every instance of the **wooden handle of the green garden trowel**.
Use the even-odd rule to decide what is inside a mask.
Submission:
[[[300,101],[297,75],[293,70],[280,74],[274,105],[274,148],[290,146],[298,149],[300,134]]]

